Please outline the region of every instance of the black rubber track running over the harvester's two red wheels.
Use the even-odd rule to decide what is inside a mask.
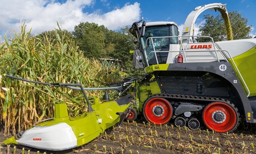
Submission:
[[[161,98],[165,98],[165,99],[181,99],[181,100],[193,100],[193,101],[206,101],[206,102],[209,102],[209,103],[216,102],[216,101],[227,103],[232,108],[235,109],[235,112],[237,113],[237,118],[238,118],[237,124],[234,126],[233,129],[231,129],[228,132],[235,131],[237,129],[237,127],[239,126],[240,114],[238,112],[238,109],[237,109],[237,107],[235,107],[235,105],[233,103],[231,103],[230,101],[228,101],[226,99],[221,99],[221,98],[216,98],[216,97],[203,97],[203,96],[192,96],[192,95],[181,95],[181,94],[163,94],[163,93],[160,93],[160,94],[154,94],[154,95],[148,97],[145,102],[147,102],[149,99],[152,99],[152,98],[155,98],[155,97],[161,97]],[[206,106],[209,103],[207,103]]]

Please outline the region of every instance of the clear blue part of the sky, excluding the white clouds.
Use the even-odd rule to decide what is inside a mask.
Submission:
[[[248,18],[249,25],[256,26],[256,0],[102,0],[95,1],[95,5],[86,11],[98,10],[106,13],[126,3],[133,4],[134,2],[140,3],[140,15],[146,21],[174,21],[178,25],[183,24],[190,11],[199,5],[226,3],[228,11],[238,11],[243,17]],[[205,11],[203,14],[216,15],[219,12]],[[199,16],[199,20],[200,18],[203,18],[203,15]]]

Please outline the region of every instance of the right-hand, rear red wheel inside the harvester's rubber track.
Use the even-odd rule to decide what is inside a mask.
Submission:
[[[237,114],[230,105],[216,102],[206,106],[203,120],[209,129],[222,133],[234,128],[237,122]]]

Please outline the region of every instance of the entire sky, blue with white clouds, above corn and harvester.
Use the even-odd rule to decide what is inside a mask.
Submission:
[[[1,0],[0,37],[18,31],[20,21],[26,21],[33,34],[57,28],[57,21],[69,31],[86,21],[119,30],[142,17],[147,22],[174,21],[182,28],[190,11],[214,2],[227,3],[228,11],[238,11],[248,19],[248,25],[256,27],[256,0]],[[203,14],[219,12],[207,10]],[[203,14],[197,19],[197,28]],[[254,28],[251,34],[256,35]]]

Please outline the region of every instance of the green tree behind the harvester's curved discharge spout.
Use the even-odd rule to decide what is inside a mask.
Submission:
[[[251,38],[249,33],[252,28],[251,25],[247,26],[247,18],[242,17],[237,11],[229,13],[230,23],[233,32],[233,39],[247,39]],[[205,23],[199,26],[200,36],[210,36],[214,41],[226,40],[226,29],[223,18],[221,15],[213,17],[212,15],[204,15]],[[205,41],[199,39],[199,41]]]

